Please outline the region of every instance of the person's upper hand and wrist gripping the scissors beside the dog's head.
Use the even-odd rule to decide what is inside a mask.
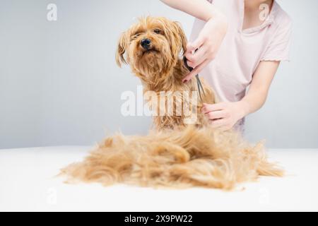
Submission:
[[[183,79],[184,83],[190,81],[216,57],[227,30],[228,22],[225,16],[211,18],[206,22],[196,40],[192,43],[188,42],[184,56],[187,57],[188,66],[194,70]]]

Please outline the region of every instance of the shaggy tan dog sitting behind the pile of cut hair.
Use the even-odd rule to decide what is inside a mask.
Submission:
[[[193,124],[205,124],[206,117],[201,114],[201,103],[213,104],[216,102],[215,93],[204,81],[203,100],[185,98],[185,95],[182,95],[187,92],[189,96],[195,93],[196,97],[199,97],[195,80],[186,84],[182,83],[182,78],[189,71],[179,55],[186,51],[186,46],[187,38],[179,23],[159,17],[141,18],[139,23],[123,32],[119,39],[116,54],[117,64],[119,66],[129,64],[132,73],[141,79],[144,92],[151,91],[158,95],[155,101],[148,102],[149,107],[158,108],[158,100],[163,91],[167,94],[165,96],[166,105],[168,100],[171,100],[172,97],[175,98],[172,100],[174,102],[174,106],[171,107],[172,114],[154,117],[156,129],[173,129],[175,126],[184,126],[187,124],[185,123],[188,121],[187,119],[196,118]],[[177,114],[177,106],[181,108],[184,105],[191,108],[189,109],[191,113]],[[160,109],[157,110],[160,112]]]

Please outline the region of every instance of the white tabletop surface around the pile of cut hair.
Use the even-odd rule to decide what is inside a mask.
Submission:
[[[64,184],[59,168],[81,160],[90,147],[0,150],[0,210],[215,211],[318,210],[318,150],[269,150],[284,178],[262,177],[242,191],[149,189]],[[239,189],[237,189],[239,190]]]

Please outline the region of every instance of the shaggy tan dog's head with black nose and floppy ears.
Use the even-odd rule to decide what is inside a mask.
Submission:
[[[163,17],[140,18],[119,39],[116,61],[129,64],[144,81],[167,76],[185,52],[187,40],[179,23]]]

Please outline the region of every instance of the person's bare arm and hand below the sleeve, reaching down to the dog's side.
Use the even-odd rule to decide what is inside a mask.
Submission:
[[[212,120],[211,124],[214,127],[231,129],[237,121],[256,112],[264,105],[279,64],[279,61],[261,61],[249,85],[247,95],[242,100],[204,105],[202,112]]]

